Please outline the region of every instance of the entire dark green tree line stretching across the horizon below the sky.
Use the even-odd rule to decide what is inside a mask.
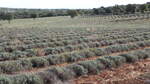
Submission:
[[[54,16],[75,16],[81,15],[121,15],[147,13],[150,11],[150,2],[145,4],[115,5],[111,7],[100,7],[93,9],[12,9],[0,8],[0,20],[54,17]]]

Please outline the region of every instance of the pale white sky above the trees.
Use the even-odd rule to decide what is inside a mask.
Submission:
[[[97,8],[101,6],[142,4],[150,0],[0,0],[0,7],[9,8]]]

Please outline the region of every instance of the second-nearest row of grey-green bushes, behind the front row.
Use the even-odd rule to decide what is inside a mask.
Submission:
[[[3,62],[3,63],[0,63],[0,68],[2,68],[3,73],[6,73],[6,72],[10,73],[10,72],[15,72],[15,71],[31,69],[30,65],[32,65],[32,68],[40,68],[40,67],[44,67],[48,65],[61,64],[65,62],[75,62],[75,61],[88,58],[88,57],[109,55],[114,52],[123,52],[123,51],[129,51],[132,49],[139,49],[139,48],[142,48],[142,47],[139,47],[137,44],[113,45],[113,46],[108,46],[105,48],[95,48],[95,49],[89,49],[89,50],[73,52],[73,53],[66,53],[66,54],[61,54],[61,55],[32,57],[32,58],[28,58],[29,64],[26,64],[26,65],[22,64],[23,60],[21,59],[16,60],[16,61]],[[128,61],[131,61],[131,62],[134,60],[135,61],[138,60],[138,58],[136,58],[134,55],[133,56],[127,55],[125,57],[128,58]],[[144,57],[148,57],[148,55],[145,54]],[[13,68],[13,67],[16,67],[13,64],[17,65],[18,67]],[[9,69],[7,70],[5,65],[7,65],[7,67],[12,67],[13,68],[12,71]]]

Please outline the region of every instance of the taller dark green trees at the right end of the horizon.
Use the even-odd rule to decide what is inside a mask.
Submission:
[[[150,11],[150,2],[145,4],[128,4],[128,5],[115,5],[112,7],[94,8],[93,14],[95,15],[120,15],[120,14],[135,14],[146,13]]]

